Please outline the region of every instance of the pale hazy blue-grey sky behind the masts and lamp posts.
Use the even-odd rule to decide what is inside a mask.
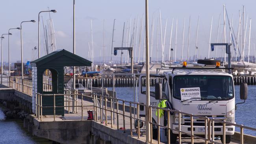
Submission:
[[[175,50],[175,30],[176,30],[176,18],[178,19],[177,29],[177,44],[176,44],[176,59],[181,59],[182,53],[182,34],[183,34],[183,22],[185,20],[185,32],[184,32],[184,53],[183,59],[187,59],[187,49],[189,47],[189,57],[193,58],[195,55],[195,37],[197,20],[199,16],[199,28],[198,28],[198,42],[197,47],[200,49],[201,57],[208,57],[209,39],[210,39],[210,26],[211,17],[213,17],[211,42],[217,42],[217,27],[220,16],[219,26],[219,41],[223,42],[223,4],[226,4],[228,12],[228,18],[231,20],[233,15],[233,29],[234,36],[237,37],[238,24],[239,24],[239,10],[242,11],[243,5],[245,5],[245,21],[248,14],[248,26],[246,37],[245,53],[248,53],[248,41],[249,41],[249,19],[252,19],[251,26],[251,50],[250,54],[254,55],[254,43],[255,43],[255,28],[254,19],[255,4],[253,0],[149,0],[149,30],[151,34],[152,29],[152,16],[154,14],[154,39],[152,41],[152,60],[161,57],[161,35],[160,35],[160,21],[157,19],[159,16],[159,9],[161,10],[161,26],[162,26],[162,42],[164,40],[165,24],[166,38],[164,45],[165,59],[169,57],[169,46],[171,36],[171,21],[174,18],[172,44],[171,48]],[[20,27],[20,22],[25,20],[38,21],[39,11],[45,11],[50,9],[56,9],[57,13],[50,13],[51,18],[54,21],[54,28],[56,32],[56,45],[57,49],[66,49],[72,52],[72,17],[73,17],[73,0],[1,0],[0,1],[0,34],[8,33],[9,28]],[[49,19],[49,13],[41,13],[43,20]],[[190,39],[188,45],[188,33],[189,33],[189,17],[191,17],[190,26]],[[139,53],[139,28],[141,18],[143,18],[143,29],[141,34],[141,48],[140,54],[142,60],[143,56],[143,43],[144,43],[144,26],[145,26],[145,1],[144,0],[76,0],[76,54],[88,58],[89,46],[91,45],[91,20],[93,27],[93,53],[94,61],[103,60],[105,57],[106,63],[110,59],[111,41],[113,22],[115,21],[115,31],[113,37],[113,47],[121,47],[122,45],[122,32],[124,22],[124,46],[130,43],[133,35],[133,28],[135,25],[135,32],[133,37],[136,37],[136,24],[138,18],[137,27],[137,43],[135,61],[138,60],[137,55]],[[128,38],[129,30],[127,26],[130,25],[130,41],[126,41],[126,35]],[[134,22],[135,20],[135,22]],[[41,21],[42,22],[42,21]],[[104,22],[104,25],[103,25]],[[228,21],[227,21],[228,22]],[[38,45],[37,42],[37,25],[38,23],[27,22],[22,24],[23,32],[23,54],[24,61],[30,61],[32,59],[32,48]],[[40,23],[42,25],[42,23]],[[157,35],[157,25],[158,35]],[[104,26],[104,27],[103,27]],[[228,27],[228,24],[226,25]],[[103,29],[104,29],[104,44],[103,44]],[[44,34],[43,27],[41,26],[41,56],[45,55],[44,50]],[[20,30],[11,30],[13,35],[10,36],[10,50],[11,50],[11,62],[20,61]],[[226,32],[226,41],[229,41],[229,29]],[[150,37],[150,35],[149,35]],[[158,37],[158,46],[156,45],[156,38]],[[104,45],[104,46],[103,46]],[[216,48],[215,48],[216,50]],[[217,57],[221,57],[221,48],[217,48]],[[135,51],[135,50],[134,50]],[[120,61],[120,53],[117,56],[112,55],[114,61]],[[174,57],[173,52],[173,57]],[[126,54],[124,52],[124,54]],[[37,54],[35,53],[35,57]],[[215,57],[215,51],[210,52],[210,57]],[[8,61],[8,39],[3,39],[3,61]]]

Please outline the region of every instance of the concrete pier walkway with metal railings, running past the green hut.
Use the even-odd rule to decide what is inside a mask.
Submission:
[[[15,80],[14,80],[15,79]],[[18,79],[18,80],[17,80]],[[6,97],[12,97],[12,100],[19,100],[20,103],[30,103],[32,107],[32,83],[27,81],[26,85],[20,87],[19,78],[5,78],[7,82],[2,83],[0,85],[0,99],[7,100]],[[45,89],[51,89],[50,87],[46,86]],[[140,120],[144,121],[143,119],[139,119],[138,108],[143,106],[139,103],[135,102],[128,102],[125,100],[112,98],[108,96],[101,96],[99,94],[92,94],[91,91],[87,91],[85,94],[79,94],[77,90],[65,90],[64,96],[64,108],[65,114],[64,116],[61,115],[42,115],[41,110],[44,106],[40,103],[40,97],[43,96],[42,94],[37,94],[37,113],[31,114],[29,120],[24,120],[24,126],[28,125],[32,129],[34,135],[39,137],[48,138],[50,140],[55,140],[61,143],[68,143],[67,138],[69,137],[78,137],[78,133],[80,134],[81,138],[76,139],[73,143],[97,143],[95,137],[98,137],[102,142],[105,143],[133,143],[133,144],[142,144],[145,143],[146,138],[143,133],[145,133],[144,128],[141,129],[134,127],[134,121]],[[46,96],[46,95],[45,95]],[[53,96],[53,95],[48,95]],[[16,98],[19,97],[19,98]],[[23,99],[23,101],[22,101]],[[55,105],[53,107],[56,107]],[[157,107],[150,107],[152,114],[152,108],[154,109],[161,109]],[[31,109],[31,108],[30,108]],[[171,112],[171,110],[163,109],[165,111]],[[87,111],[93,111],[93,120],[87,120],[88,113]],[[153,113],[154,114],[154,113]],[[194,117],[197,117],[193,115]],[[25,124],[25,121],[28,124]],[[213,119],[206,119],[208,126],[207,126],[207,134],[210,133],[208,131],[211,127],[212,122],[216,120]],[[150,122],[151,126],[157,126],[158,128],[164,128],[164,126],[158,125],[155,122]],[[209,125],[210,124],[210,125]],[[223,123],[224,124],[224,123]],[[31,125],[31,126],[30,126]],[[234,124],[235,125],[235,124]],[[52,127],[55,128],[52,128]],[[61,128],[59,127],[61,126]],[[243,129],[247,129],[248,127],[236,125]],[[138,126],[139,127],[139,126]],[[63,134],[63,129],[67,129],[67,133]],[[75,130],[74,130],[75,129]],[[167,127],[170,129],[170,127]],[[253,128],[251,128],[253,129]],[[141,135],[136,133],[137,131],[141,131]],[[243,131],[242,131],[243,132]],[[55,133],[55,134],[53,134]],[[183,133],[180,131],[180,133]],[[53,136],[58,137],[53,139]],[[83,135],[82,135],[83,134]],[[52,136],[51,136],[52,135]],[[65,138],[66,135],[66,138]],[[69,135],[69,136],[67,136]],[[94,135],[94,139],[91,138],[90,135]],[[208,135],[206,139],[200,139],[197,136],[187,134],[188,136],[182,135],[182,137],[176,143],[180,144],[201,144],[201,143],[211,143],[210,141],[213,140],[211,135]],[[242,137],[243,136],[243,137]],[[243,138],[243,144],[253,144],[256,142],[256,137],[248,136],[239,133],[235,133],[232,136],[232,142],[230,144],[239,144],[240,138]],[[58,139],[59,138],[59,139]],[[92,139],[91,141],[86,140]],[[193,139],[193,142],[191,141]],[[214,140],[215,143],[221,143],[220,140]],[[157,144],[161,143],[158,142],[158,139],[151,140],[151,143]],[[167,142],[165,142],[167,143]]]

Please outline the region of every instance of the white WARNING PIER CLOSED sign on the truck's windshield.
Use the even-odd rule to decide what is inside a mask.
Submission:
[[[189,100],[191,98],[201,98],[200,87],[181,88],[180,89],[181,100]]]

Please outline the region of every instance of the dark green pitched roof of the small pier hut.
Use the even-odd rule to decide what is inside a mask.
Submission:
[[[36,64],[36,66],[91,66],[92,62],[63,49],[56,50],[31,63]]]

